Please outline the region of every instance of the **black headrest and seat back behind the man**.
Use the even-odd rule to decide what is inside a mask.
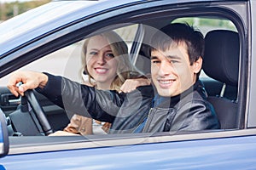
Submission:
[[[239,72],[239,36],[235,31],[209,31],[205,37],[203,70],[226,85],[237,87]],[[222,129],[238,127],[236,101],[219,96],[209,96]]]

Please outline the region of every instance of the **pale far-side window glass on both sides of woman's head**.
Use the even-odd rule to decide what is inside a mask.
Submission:
[[[129,51],[131,50],[132,42],[135,39],[137,33],[137,24],[131,26],[125,26],[113,31],[117,32],[122,37]],[[75,42],[65,48],[61,48],[54,53],[44,56],[44,58],[38,59],[19,70],[30,71],[48,71],[52,74],[65,76],[76,82],[81,82],[81,55],[82,45],[84,40]],[[9,80],[9,75],[0,79],[0,85],[5,86]]]

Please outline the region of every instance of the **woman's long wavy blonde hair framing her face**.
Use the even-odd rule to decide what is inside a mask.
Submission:
[[[117,76],[113,79],[113,82],[111,83],[110,88],[112,90],[118,90],[122,86],[122,84],[125,82],[126,79],[131,78],[139,78],[143,77],[142,74],[140,74],[136,69],[131,65],[130,55],[128,53],[128,47],[124,40],[119,37],[119,35],[114,31],[107,31],[103,32],[101,34],[98,34],[96,36],[102,36],[105,37],[109,43],[110,48],[113,51],[114,58],[118,61],[118,67],[117,67]],[[87,46],[90,41],[90,38],[87,38],[84,41],[83,45],[83,54],[82,54],[82,63],[83,63],[83,71],[85,71],[89,76],[89,82],[91,85],[95,85],[95,83],[92,81],[93,77],[90,76],[89,72],[87,71],[87,65],[86,65],[86,53],[87,53]]]

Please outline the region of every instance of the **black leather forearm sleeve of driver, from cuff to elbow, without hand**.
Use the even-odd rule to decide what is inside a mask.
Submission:
[[[64,77],[45,74],[49,77],[48,83],[43,89],[37,88],[38,93],[61,106],[69,116],[76,113],[102,122],[113,122],[125,98],[125,94],[96,90]]]

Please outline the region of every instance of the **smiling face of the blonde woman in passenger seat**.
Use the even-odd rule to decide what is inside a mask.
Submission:
[[[86,50],[86,65],[90,76],[100,87],[110,87],[118,67],[108,40],[102,36],[91,37]]]

